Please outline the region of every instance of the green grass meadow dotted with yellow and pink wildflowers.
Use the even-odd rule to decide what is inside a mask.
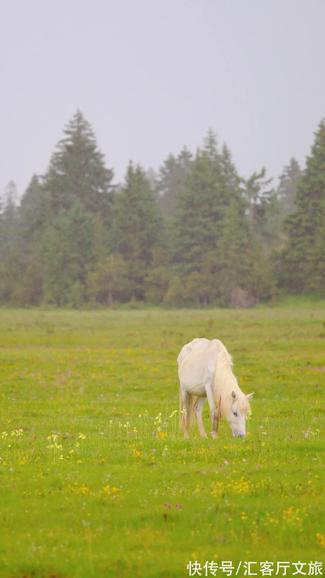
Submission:
[[[324,321],[317,303],[0,310],[1,578],[322,560]],[[255,392],[245,440],[225,420],[216,441],[179,433],[176,358],[198,336]]]

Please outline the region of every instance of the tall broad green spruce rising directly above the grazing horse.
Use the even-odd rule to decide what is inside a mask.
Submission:
[[[263,176],[264,172],[251,180],[252,205],[260,192],[256,179]],[[245,289],[249,275],[255,275],[260,261],[252,261],[249,253],[260,240],[249,227],[246,212],[244,181],[229,149],[224,145],[219,152],[209,131],[178,197],[174,220],[174,262],[185,280],[188,299],[200,305],[214,301],[227,305],[231,293],[237,287]],[[254,219],[255,213],[254,208]],[[261,284],[254,292],[257,301]]]

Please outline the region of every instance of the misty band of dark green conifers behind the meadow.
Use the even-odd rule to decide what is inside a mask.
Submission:
[[[259,167],[257,167],[259,169]],[[305,169],[292,158],[277,188],[264,168],[238,175],[210,130],[114,185],[80,110],[45,175],[0,206],[0,304],[115,302],[249,307],[278,295],[325,296],[325,120]]]

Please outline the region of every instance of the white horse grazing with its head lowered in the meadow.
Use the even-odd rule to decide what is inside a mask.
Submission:
[[[212,420],[212,438],[218,436],[218,425],[225,417],[233,436],[246,436],[246,417],[249,399],[238,386],[233,374],[233,360],[219,339],[193,339],[184,345],[177,358],[180,377],[180,425],[189,425],[196,417],[200,435],[207,437],[202,421],[202,410],[208,399]],[[194,397],[196,396],[196,398]]]

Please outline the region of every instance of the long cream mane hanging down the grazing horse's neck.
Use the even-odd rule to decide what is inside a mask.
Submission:
[[[233,360],[226,350],[226,347],[223,346],[223,348],[215,364],[213,391],[215,403],[221,411],[221,416],[229,417],[231,408],[246,413],[250,409],[250,405],[234,376]],[[235,401],[232,397],[233,391],[237,396]]]

